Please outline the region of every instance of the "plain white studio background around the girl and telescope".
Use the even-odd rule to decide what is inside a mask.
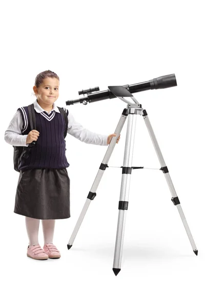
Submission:
[[[202,1],[10,1],[1,7],[1,280],[3,306],[204,307],[204,11]],[[107,168],[72,248],[67,243],[106,146],[67,136],[71,218],[56,221],[58,260],[26,256],[25,217],[14,214],[18,172],[4,141],[17,108],[31,104],[35,76],[60,79],[57,105],[100,134],[115,131],[118,99],[66,106],[78,91],[175,73],[177,87],[135,93],[147,112],[198,248],[160,170],[133,170],[121,271],[112,271],[121,168]],[[122,166],[127,121],[109,166]],[[137,116],[133,166],[160,168]],[[42,226],[39,243],[43,245]]]

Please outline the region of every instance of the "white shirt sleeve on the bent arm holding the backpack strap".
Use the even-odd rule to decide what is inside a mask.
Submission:
[[[23,120],[20,111],[17,110],[14,114],[7,130],[5,131],[4,140],[14,146],[28,146],[26,143],[28,134],[22,134]]]

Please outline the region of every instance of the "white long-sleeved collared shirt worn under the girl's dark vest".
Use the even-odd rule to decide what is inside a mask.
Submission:
[[[37,103],[37,99],[33,104],[36,112],[41,113],[46,111],[42,107],[40,107],[40,105]],[[55,112],[60,113],[55,102],[53,103],[53,109],[51,111],[53,110],[55,110]],[[46,112],[49,114],[51,111],[46,111]],[[14,114],[7,130],[5,131],[5,137],[4,137],[5,141],[14,146],[28,146],[29,143],[26,143],[28,134],[23,135],[22,129],[23,129],[22,114],[18,110]],[[108,140],[107,135],[101,135],[84,128],[80,123],[75,121],[70,111],[68,113],[67,132],[71,134],[73,137],[85,143],[96,144],[96,145],[107,145],[107,140]]]

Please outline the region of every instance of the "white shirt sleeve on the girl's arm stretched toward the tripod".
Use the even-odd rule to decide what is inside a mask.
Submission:
[[[67,132],[73,137],[79,139],[82,142],[96,144],[96,145],[108,145],[108,135],[102,135],[92,132],[84,128],[80,123],[76,122],[73,115],[68,113],[68,130]]]

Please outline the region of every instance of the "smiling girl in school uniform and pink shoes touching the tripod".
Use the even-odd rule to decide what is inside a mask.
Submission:
[[[25,216],[29,238],[27,256],[36,260],[60,258],[60,252],[53,244],[55,219],[70,217],[69,163],[65,155],[65,119],[55,101],[59,95],[59,77],[47,70],[35,78],[33,103],[36,130],[31,130],[28,106],[20,107],[14,114],[5,132],[5,141],[13,146],[28,146],[29,156],[21,160],[16,189],[14,213]],[[82,142],[108,145],[112,137],[91,132],[77,123],[68,109],[68,133]],[[116,141],[119,142],[120,135]],[[42,219],[44,247],[38,243],[39,221]]]

